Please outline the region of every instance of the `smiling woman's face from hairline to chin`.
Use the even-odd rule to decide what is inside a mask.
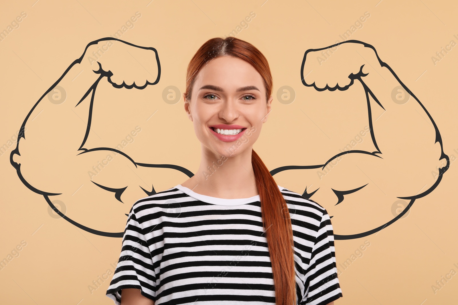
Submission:
[[[262,77],[251,64],[221,56],[199,71],[185,110],[202,145],[218,157],[229,157],[251,151],[267,121],[272,99],[266,102]],[[232,129],[235,133],[242,130],[234,134]]]

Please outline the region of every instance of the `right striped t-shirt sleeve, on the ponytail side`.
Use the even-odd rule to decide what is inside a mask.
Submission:
[[[306,290],[300,305],[326,305],[342,297],[337,278],[333,226],[326,209],[323,211],[305,279]]]

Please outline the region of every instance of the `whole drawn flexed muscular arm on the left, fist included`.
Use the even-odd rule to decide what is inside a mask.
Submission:
[[[91,64],[87,58],[93,54],[98,59]],[[18,137],[10,161],[24,185],[42,194],[73,225],[98,235],[122,236],[132,203],[156,193],[153,182],[160,177],[155,170],[170,168],[188,177],[192,173],[169,164],[136,163],[112,147],[87,147],[94,95],[101,82],[135,91],[157,84],[160,73],[154,48],[111,37],[89,43],[22,123],[27,133]],[[115,155],[109,166],[90,177],[88,170],[108,154]]]

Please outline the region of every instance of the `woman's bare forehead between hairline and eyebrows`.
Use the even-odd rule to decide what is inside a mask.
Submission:
[[[217,57],[204,64],[196,76],[194,86],[198,89],[204,85],[220,86],[228,91],[254,85],[262,92],[265,91],[258,71],[245,60],[232,56]]]

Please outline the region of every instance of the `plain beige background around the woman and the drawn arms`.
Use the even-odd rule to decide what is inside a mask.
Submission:
[[[31,107],[82,55],[87,43],[113,35],[138,11],[141,17],[121,39],[156,48],[162,74],[157,88],[152,90],[151,104],[144,105],[147,108],[144,113],[148,113],[142,118],[142,132],[128,149],[137,153],[138,162],[146,162],[148,158],[152,161],[154,155],[158,161],[151,163],[178,164],[194,172],[198,167],[200,144],[185,115],[183,101],[174,105],[165,103],[162,90],[176,86],[182,93],[186,66],[197,48],[211,37],[227,36],[253,11],[256,17],[236,37],[253,43],[269,60],[274,96],[281,86],[290,86],[297,94],[289,105],[274,99],[273,112],[254,148],[270,170],[286,165],[319,164],[323,150],[343,147],[365,126],[356,124],[355,120],[365,118],[367,109],[345,109],[339,103],[320,104],[319,101],[333,97],[325,93],[308,95],[310,88],[305,90],[300,82],[300,64],[305,50],[342,41],[339,35],[367,11],[371,16],[351,39],[375,46],[381,59],[420,99],[441,132],[444,152],[453,160],[458,156],[457,47],[436,64],[431,57],[451,40],[458,42],[454,37],[458,36],[457,6],[455,1],[435,3],[431,0],[335,3],[262,0],[218,4],[202,0],[180,1],[180,4],[163,0],[135,4],[85,0],[65,4],[34,0],[5,2],[0,11],[0,30],[11,25],[21,12],[27,16],[0,41],[3,71],[0,145],[11,146],[8,141]],[[99,120],[93,121],[92,128],[102,134],[103,139],[115,135],[111,140],[119,143],[136,126],[139,108],[132,101],[115,105],[109,102],[98,106]],[[300,109],[311,113],[314,123],[301,117]],[[155,119],[145,122],[156,110]],[[339,121],[329,119],[336,113],[340,113]],[[306,132],[291,132],[287,123],[299,120],[304,120],[302,128]],[[173,128],[164,128],[164,125]],[[333,141],[323,141],[326,136],[318,126]],[[180,142],[171,141],[172,137]],[[149,151],[153,144],[154,153]],[[161,154],[160,145],[168,147],[167,154]],[[25,187],[11,166],[9,157],[15,147],[16,141],[0,156],[3,193],[0,259],[11,255],[21,242],[22,247],[18,246],[21,250],[17,251],[17,257],[0,271],[3,302],[112,304],[105,296],[112,277],[107,278],[107,274],[114,271],[121,239],[94,235],[64,219],[50,217],[52,212],[43,196]],[[376,234],[336,241],[338,268],[349,258],[353,261],[348,268],[339,268],[344,297],[336,301],[336,305],[456,302],[455,167],[452,161],[439,186],[417,199],[407,217]],[[274,178],[279,185],[295,192],[304,191],[303,185],[297,183],[298,177],[280,173]],[[173,187],[185,177],[164,176],[161,180],[162,184],[155,186],[156,191]],[[360,214],[352,216],[357,220]],[[99,221],[102,225],[110,222],[104,215]],[[124,225],[121,223],[121,227]],[[358,252],[365,243],[370,246]],[[355,251],[360,253],[359,257],[354,256]],[[443,281],[445,285],[434,292],[431,286],[437,286],[436,281],[442,276],[450,278],[447,274],[451,272],[451,279]],[[97,280],[101,283],[98,288],[93,284]],[[90,285],[97,289],[91,292]]]

